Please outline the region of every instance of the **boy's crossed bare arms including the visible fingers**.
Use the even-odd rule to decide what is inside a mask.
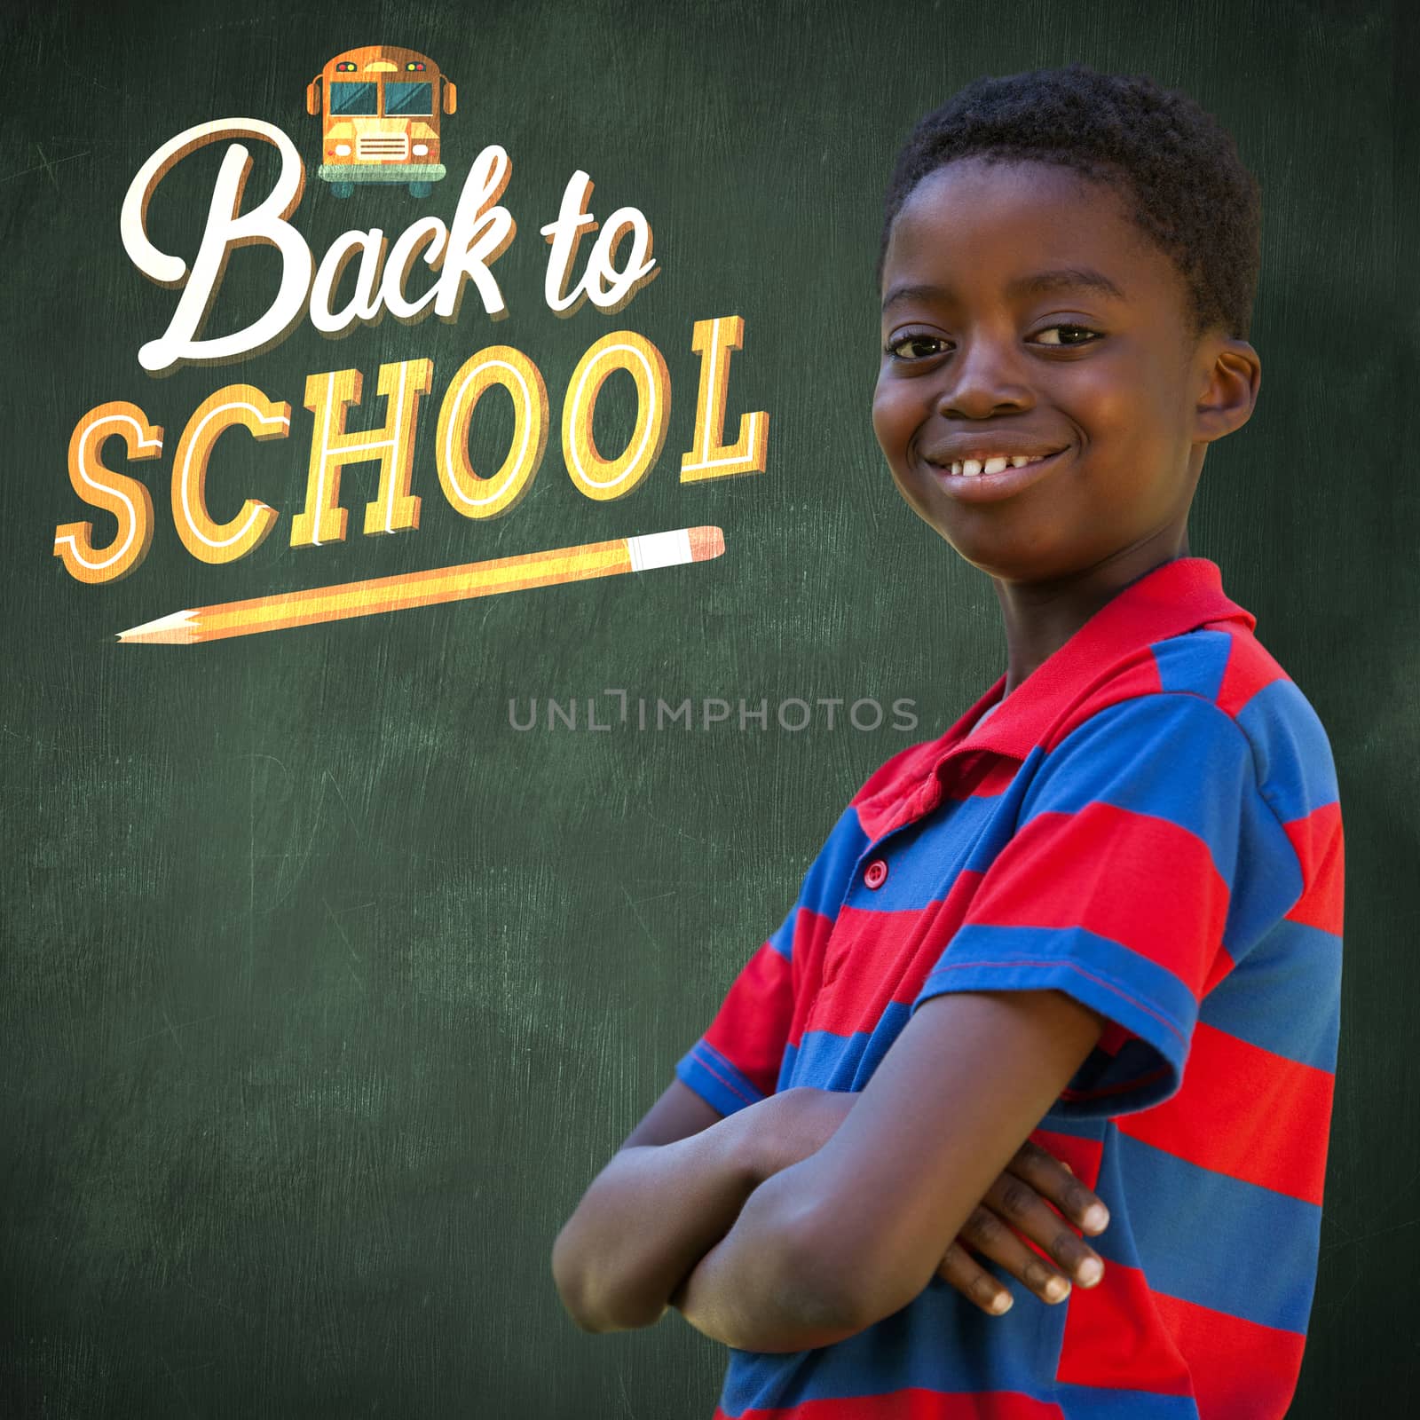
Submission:
[[[676,1306],[730,1346],[804,1350],[890,1316],[939,1274],[998,1309],[958,1234],[1059,1299],[1051,1269],[988,1220],[1015,1214],[1091,1281],[1098,1258],[1003,1170],[1048,1180],[1048,1159],[1020,1150],[1103,1024],[1059,991],[950,993],[913,1012],[861,1095],[791,1089],[721,1119],[677,1081],[558,1235],[564,1305],[589,1331]],[[1083,1224],[1096,1200],[1074,1186],[1056,1201]]]

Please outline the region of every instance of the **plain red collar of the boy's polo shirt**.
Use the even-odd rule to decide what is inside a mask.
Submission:
[[[937,741],[937,765],[958,751],[974,750],[1024,760],[1071,706],[1110,677],[1120,660],[1152,642],[1223,621],[1241,622],[1247,630],[1257,625],[1251,612],[1224,594],[1216,562],[1206,557],[1160,562],[1116,592],[1004,699],[1003,674]],[[971,733],[994,704],[1000,709]]]

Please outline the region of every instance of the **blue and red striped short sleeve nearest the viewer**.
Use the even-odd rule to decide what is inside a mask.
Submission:
[[[1035,763],[913,1010],[947,991],[1064,991],[1110,1025],[1056,1112],[1146,1109],[1177,1091],[1244,922],[1260,936],[1301,892],[1233,719],[1187,693],[1118,701]]]

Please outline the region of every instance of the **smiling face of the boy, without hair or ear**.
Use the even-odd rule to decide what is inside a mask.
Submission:
[[[1183,277],[1112,189],[978,158],[930,173],[893,223],[882,335],[878,442],[968,562],[1044,582],[1136,550],[1147,562],[1156,545],[1156,561],[1176,555],[1216,355]],[[993,456],[1045,457],[1003,470]]]

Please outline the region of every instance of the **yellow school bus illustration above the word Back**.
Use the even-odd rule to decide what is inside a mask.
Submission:
[[[444,175],[439,109],[452,114],[457,89],[439,65],[413,50],[368,44],[337,54],[305,89],[305,111],[324,114],[318,173],[337,197],[361,182],[405,183],[427,197]]]

